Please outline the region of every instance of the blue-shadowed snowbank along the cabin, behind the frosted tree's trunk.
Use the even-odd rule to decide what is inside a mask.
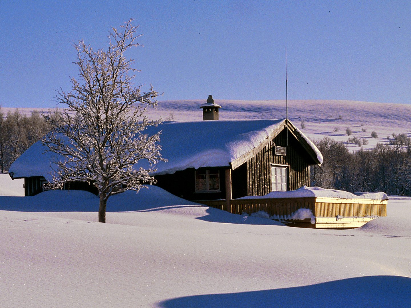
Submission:
[[[97,212],[99,198],[87,191],[45,191],[33,197],[0,196],[0,210],[29,212]],[[157,186],[142,188],[139,193],[125,191],[107,201],[107,212],[174,211],[191,214],[194,218],[218,223],[247,225],[283,225],[271,219],[243,217],[226,211],[205,207],[179,198]]]

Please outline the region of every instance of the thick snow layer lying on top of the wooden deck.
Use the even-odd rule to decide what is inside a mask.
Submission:
[[[368,200],[388,200],[386,193],[349,193],[337,189],[325,189],[321,187],[302,186],[295,191],[272,191],[264,196],[247,196],[239,199],[258,199],[258,198],[339,198],[339,199],[368,199]]]

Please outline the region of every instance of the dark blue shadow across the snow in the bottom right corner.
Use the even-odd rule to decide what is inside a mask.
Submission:
[[[162,301],[161,308],[409,307],[411,278],[365,276],[303,287],[204,294]]]

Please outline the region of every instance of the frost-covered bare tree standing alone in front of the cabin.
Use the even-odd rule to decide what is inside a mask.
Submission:
[[[43,144],[62,157],[54,162],[51,187],[72,181],[94,184],[102,223],[111,195],[127,189],[138,192],[144,184],[154,183],[151,166],[165,161],[158,144],[160,132],[152,136],[143,132],[160,123],[144,115],[147,106],[157,105],[158,93],[152,87],[148,92],[141,92],[141,85],[134,87],[134,60],[124,55],[128,48],[139,46],[131,21],[119,31],[112,28],[106,51],[94,51],[83,40],[75,45],[79,81],[71,78],[72,90],[58,91],[58,102],[67,105],[60,117],[46,117],[53,129]],[[140,159],[148,160],[150,168],[139,167]]]

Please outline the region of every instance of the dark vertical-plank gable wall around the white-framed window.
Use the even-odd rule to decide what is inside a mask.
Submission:
[[[289,165],[288,190],[309,186],[309,162],[312,158],[289,133],[287,155],[275,155],[275,146],[286,147],[286,131],[279,133],[266,147],[247,161],[247,195],[266,195],[271,191],[271,165]]]

